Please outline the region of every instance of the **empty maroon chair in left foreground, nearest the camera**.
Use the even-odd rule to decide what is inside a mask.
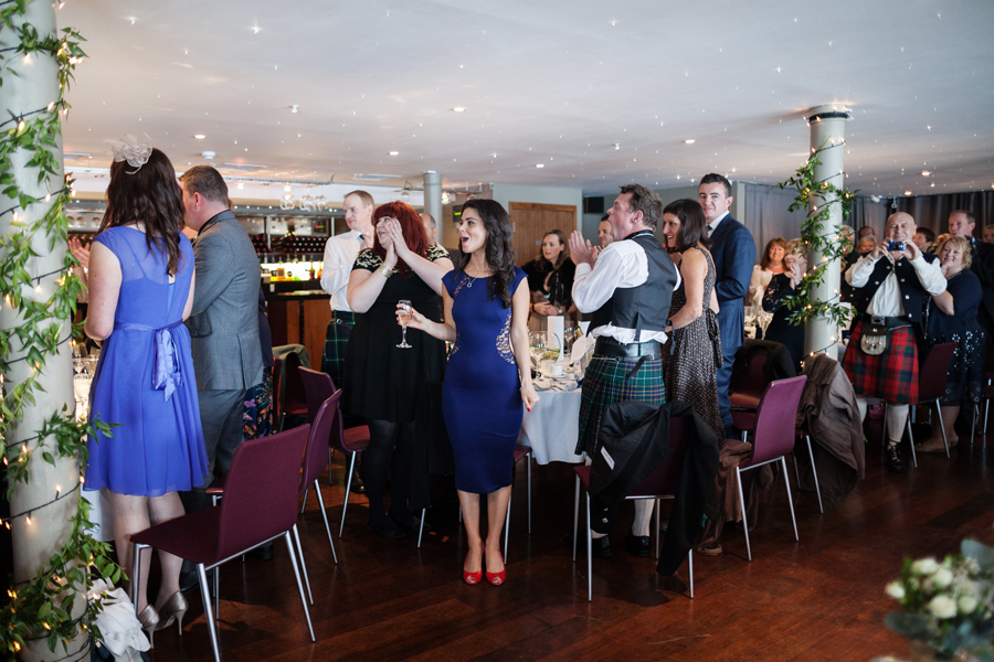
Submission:
[[[285,433],[242,441],[231,460],[224,499],[218,508],[177,517],[131,536],[134,547],[131,601],[140,585],[139,554],[155,547],[197,565],[200,596],[207,617],[214,660],[221,662],[214,612],[208,591],[207,570],[283,537],[289,553],[310,641],[315,641],[310,611],[300,581],[290,532],[297,524],[300,466],[309,425]]]

